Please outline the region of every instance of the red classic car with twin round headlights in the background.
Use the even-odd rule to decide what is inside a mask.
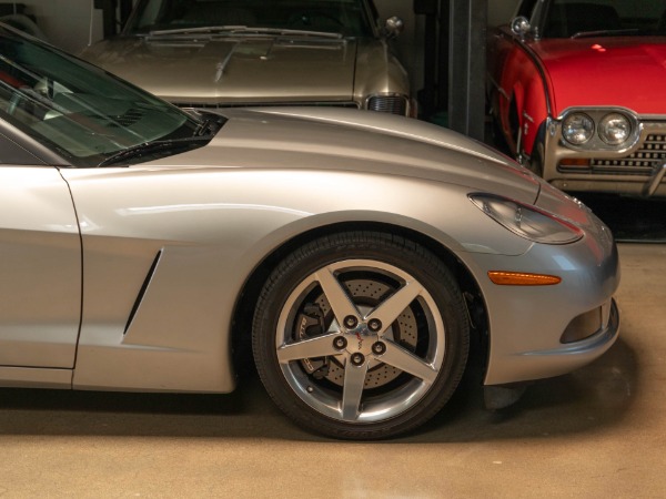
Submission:
[[[488,30],[488,99],[557,187],[666,195],[666,1],[522,0]]]

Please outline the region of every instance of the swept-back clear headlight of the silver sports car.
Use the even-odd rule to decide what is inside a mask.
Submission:
[[[543,244],[567,244],[583,237],[583,231],[553,213],[493,194],[470,194],[482,212],[514,234]]]

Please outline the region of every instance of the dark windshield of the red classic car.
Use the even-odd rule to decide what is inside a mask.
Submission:
[[[544,38],[666,34],[665,0],[553,0]]]

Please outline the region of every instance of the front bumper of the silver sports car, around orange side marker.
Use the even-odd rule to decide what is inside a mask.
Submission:
[[[547,187],[546,187],[547,190]],[[554,190],[553,190],[554,191]],[[547,193],[545,204],[551,204]],[[565,205],[573,210],[573,204]],[[488,317],[485,385],[505,385],[571,373],[604,354],[617,339],[617,247],[592,213],[584,237],[573,244],[533,244],[519,256],[474,254],[475,275]],[[552,286],[500,286],[490,271],[555,275]]]

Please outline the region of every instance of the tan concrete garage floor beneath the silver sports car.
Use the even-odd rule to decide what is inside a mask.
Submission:
[[[228,396],[0,389],[0,497],[666,497],[666,245],[622,244],[622,337],[482,408],[474,376],[416,435],[332,441],[256,379]]]

